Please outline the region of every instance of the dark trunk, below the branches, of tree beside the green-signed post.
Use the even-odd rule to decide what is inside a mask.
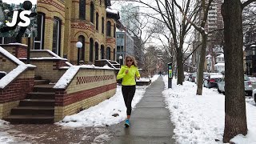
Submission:
[[[184,79],[182,47],[180,46],[177,51],[178,51],[178,54],[177,54],[177,66],[178,66],[177,67],[177,70],[178,70],[177,85],[182,85],[183,79]]]

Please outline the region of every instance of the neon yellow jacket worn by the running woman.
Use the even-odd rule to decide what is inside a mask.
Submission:
[[[126,70],[129,70],[126,74]],[[128,66],[122,66],[121,70],[118,72],[117,79],[122,78],[122,86],[134,86],[136,85],[135,76],[141,77],[138,72],[138,67],[132,65],[130,68]]]

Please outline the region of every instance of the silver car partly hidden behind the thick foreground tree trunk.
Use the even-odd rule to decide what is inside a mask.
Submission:
[[[250,79],[246,74],[244,74],[244,83],[245,83],[245,93],[246,95],[253,95],[253,87],[251,85]],[[224,93],[225,94],[225,78],[221,78],[218,81],[218,92],[219,93]]]

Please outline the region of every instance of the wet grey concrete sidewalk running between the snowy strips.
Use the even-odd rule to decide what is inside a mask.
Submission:
[[[162,77],[146,89],[142,100],[137,104],[130,116],[130,127],[125,128],[124,122],[114,126],[114,138],[109,143],[114,144],[148,144],[175,143],[174,126],[170,122],[170,112],[167,110],[162,91]]]

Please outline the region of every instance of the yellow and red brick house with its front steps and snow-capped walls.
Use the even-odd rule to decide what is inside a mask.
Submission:
[[[71,64],[115,59],[119,14],[108,6],[110,0],[38,0],[38,36],[31,38],[30,53],[27,38],[22,44],[0,38],[0,118],[58,122],[115,94],[114,69]]]

